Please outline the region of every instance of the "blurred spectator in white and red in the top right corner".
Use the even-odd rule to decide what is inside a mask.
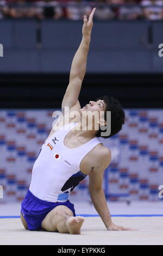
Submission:
[[[143,0],[141,2],[143,7],[143,14],[148,20],[162,20],[163,19],[163,2],[160,0]],[[147,5],[154,5],[147,7]]]

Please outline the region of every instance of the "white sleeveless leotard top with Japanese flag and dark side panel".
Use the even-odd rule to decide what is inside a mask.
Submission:
[[[62,126],[43,143],[29,186],[30,192],[37,198],[66,202],[73,188],[87,176],[80,171],[80,162],[101,141],[95,137],[78,148],[66,148],[64,138],[75,125],[77,123]]]

